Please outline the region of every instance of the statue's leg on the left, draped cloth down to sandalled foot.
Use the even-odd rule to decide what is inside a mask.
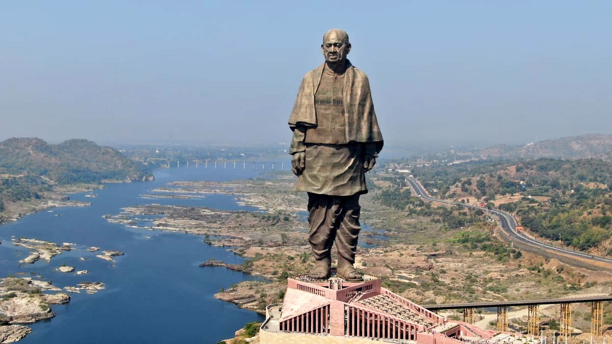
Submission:
[[[331,274],[331,250],[338,209],[340,206],[334,196],[308,192],[308,242],[316,261],[315,267],[308,273],[312,279],[327,279]]]

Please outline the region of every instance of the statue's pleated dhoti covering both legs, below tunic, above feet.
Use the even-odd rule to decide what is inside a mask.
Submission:
[[[317,261],[330,261],[334,242],[338,250],[338,270],[355,263],[359,237],[359,194],[319,195],[308,192],[308,242]]]

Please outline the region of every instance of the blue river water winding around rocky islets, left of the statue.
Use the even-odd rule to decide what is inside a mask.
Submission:
[[[1,225],[0,277],[9,274],[29,277],[34,272],[42,276],[38,279],[51,280],[59,287],[84,281],[106,283],[106,289],[97,294],[81,291],[70,294],[72,301],[67,305],[52,305],[57,316],[32,324],[32,333],[20,343],[217,343],[233,337],[234,331],[245,323],[263,320],[254,312],[213,296],[221,288],[252,277],[223,268],[198,267],[210,258],[240,264],[241,257],[204,244],[201,236],[128,228],[108,223],[102,217],[118,214],[126,206],[146,203],[254,211],[255,208],[237,205],[231,195],[206,195],[190,200],[144,200],[141,195],[171,181],[228,181],[252,178],[260,172],[211,168],[157,170],[154,182],[108,184],[106,189],[95,192],[96,198],[86,198],[84,193],[71,195],[73,200],[92,202],[91,206],[56,208]],[[138,218],[139,225],[153,219]],[[39,260],[20,265],[18,260],[28,256],[30,250],[13,245],[12,236],[76,245],[75,250],[55,256],[51,263]],[[90,246],[100,247],[101,251],[120,250],[125,255],[115,257],[113,264],[95,257],[99,252],[86,251]],[[62,264],[89,270],[89,274],[55,271]]]

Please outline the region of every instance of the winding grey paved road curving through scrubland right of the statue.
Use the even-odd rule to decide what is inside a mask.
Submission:
[[[410,183],[412,189],[417,193],[417,196],[424,198],[425,200],[457,205],[465,208],[483,209],[478,206],[472,206],[471,204],[438,200],[437,198],[431,197],[427,193],[427,190],[425,190],[423,185],[421,185],[416,178],[409,176],[406,178],[406,181]],[[488,210],[499,217],[502,228],[502,233],[500,233],[502,234],[501,238],[506,242],[512,243],[513,247],[548,258],[554,258],[573,266],[612,272],[612,259],[610,258],[589,255],[588,253],[564,249],[562,247],[556,247],[542,241],[537,241],[533,237],[529,237],[524,233],[517,233],[517,222],[511,214],[498,209],[485,210]]]

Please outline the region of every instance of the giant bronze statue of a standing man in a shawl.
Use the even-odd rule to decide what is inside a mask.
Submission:
[[[296,191],[308,193],[308,242],[315,255],[312,279],[331,274],[331,249],[338,251],[338,277],[355,282],[359,237],[359,195],[367,193],[365,173],[383,148],[370,83],[346,55],[348,34],[327,31],[321,44],[325,62],[308,72],[289,117],[293,140],[289,154]]]

